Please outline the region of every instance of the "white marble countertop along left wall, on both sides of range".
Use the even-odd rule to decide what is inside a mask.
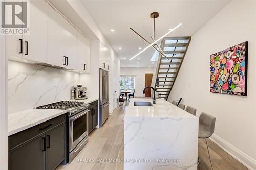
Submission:
[[[84,100],[68,100],[91,103],[98,98],[88,98]],[[67,113],[67,110],[59,109],[29,109],[20,112],[11,113],[8,115],[8,135],[21,132],[40,123],[46,122],[61,114]]]

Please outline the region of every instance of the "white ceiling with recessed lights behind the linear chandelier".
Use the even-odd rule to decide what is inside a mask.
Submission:
[[[130,30],[130,27],[152,42],[150,36],[153,35],[154,20],[150,18],[150,14],[157,11],[159,17],[156,19],[156,38],[179,23],[182,23],[182,26],[168,36],[191,36],[230,0],[82,0],[82,2],[119,56],[121,67],[154,67],[156,62],[152,64],[150,61],[155,52],[153,48],[140,54],[138,56],[140,60],[137,57],[129,61],[140,51],[139,47],[143,49],[147,46]],[[115,31],[111,32],[111,29]],[[119,47],[122,49],[119,50]]]

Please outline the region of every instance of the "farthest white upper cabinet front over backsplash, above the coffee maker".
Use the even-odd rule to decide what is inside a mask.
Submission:
[[[90,72],[90,41],[78,32],[78,71],[83,73]]]

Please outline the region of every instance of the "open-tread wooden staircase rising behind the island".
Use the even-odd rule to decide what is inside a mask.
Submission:
[[[161,54],[158,56],[155,89],[157,89],[159,98],[168,99],[186,55],[190,40],[191,37],[165,37],[161,41],[161,48],[167,59]]]

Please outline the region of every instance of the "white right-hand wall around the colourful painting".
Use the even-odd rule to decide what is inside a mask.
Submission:
[[[256,169],[256,4],[232,1],[191,39],[168,101],[183,103],[214,115],[215,135],[226,151]],[[244,41],[248,47],[248,96],[209,92],[210,55]]]

